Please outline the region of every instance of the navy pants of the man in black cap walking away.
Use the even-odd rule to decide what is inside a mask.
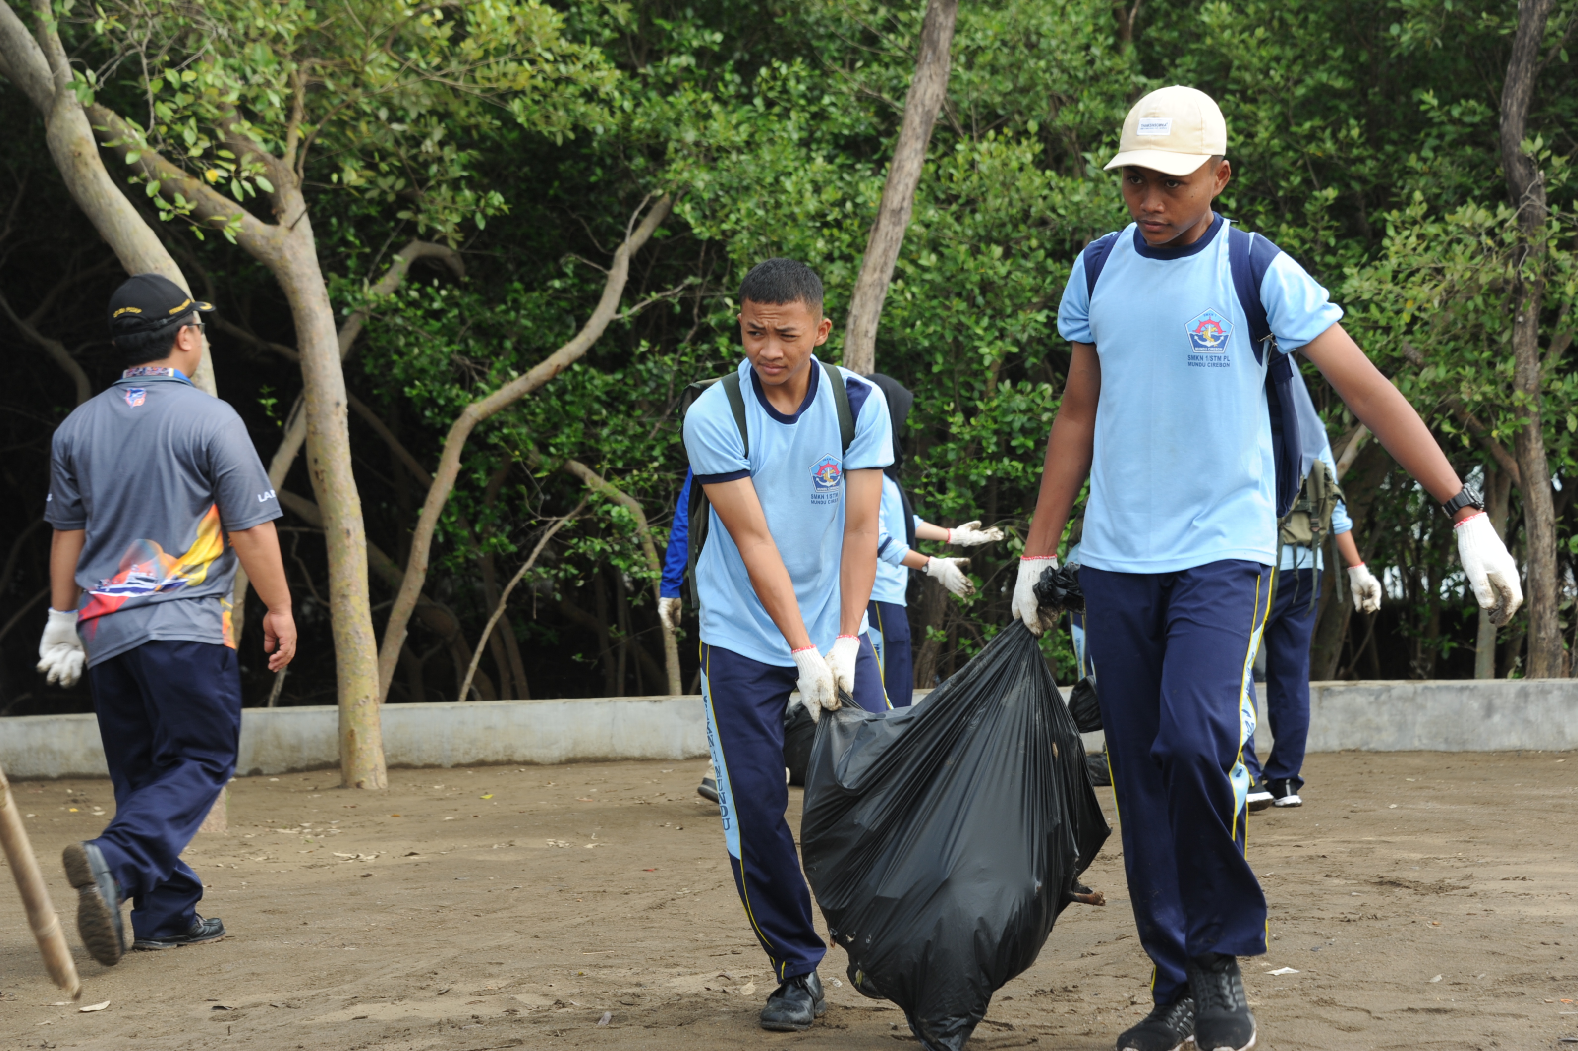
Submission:
[[[191,929],[202,879],[181,851],[235,773],[241,674],[216,642],[144,642],[88,669],[115,819],[93,843],[137,937]]]

